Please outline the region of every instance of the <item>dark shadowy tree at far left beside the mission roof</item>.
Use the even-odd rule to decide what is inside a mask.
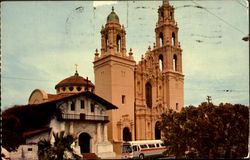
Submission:
[[[2,113],[3,147],[8,151],[16,150],[24,143],[23,132],[47,127],[51,119],[58,117],[60,113],[60,107],[52,102],[39,105],[16,105],[6,109]]]

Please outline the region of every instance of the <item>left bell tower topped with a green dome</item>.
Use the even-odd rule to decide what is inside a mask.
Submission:
[[[124,26],[112,12],[101,29],[101,54],[94,59],[95,93],[118,106],[107,111],[108,139],[116,153],[121,153],[124,140],[134,140],[134,70],[132,49],[127,54]]]

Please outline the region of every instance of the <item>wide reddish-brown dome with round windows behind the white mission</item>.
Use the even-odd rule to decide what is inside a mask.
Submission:
[[[88,78],[85,79],[79,76],[77,70],[75,75],[62,80],[55,86],[57,94],[74,94],[82,91],[94,92],[94,88],[94,84]]]

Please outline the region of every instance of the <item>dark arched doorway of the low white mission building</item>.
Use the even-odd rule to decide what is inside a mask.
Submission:
[[[88,133],[81,133],[79,135],[79,146],[81,153],[90,153],[90,135]]]

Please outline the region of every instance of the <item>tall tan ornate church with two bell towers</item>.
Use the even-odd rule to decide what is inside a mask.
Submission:
[[[108,139],[116,153],[121,153],[123,141],[160,139],[161,114],[184,106],[182,49],[174,7],[168,1],[159,7],[155,43],[138,63],[131,48],[127,53],[125,36],[112,8],[93,63],[95,93],[118,107],[107,111]]]

